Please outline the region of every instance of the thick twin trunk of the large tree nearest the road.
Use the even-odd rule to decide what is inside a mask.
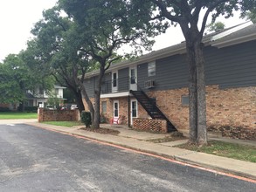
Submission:
[[[186,41],[187,57],[190,66],[190,143],[207,144],[204,55],[201,40]]]

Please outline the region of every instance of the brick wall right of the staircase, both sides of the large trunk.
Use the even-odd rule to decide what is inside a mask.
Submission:
[[[178,129],[189,127],[189,107],[182,106],[182,95],[187,88],[148,93]],[[256,87],[218,89],[206,87],[207,125],[230,125],[256,128]]]

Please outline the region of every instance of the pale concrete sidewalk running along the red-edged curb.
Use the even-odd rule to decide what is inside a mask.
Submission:
[[[256,182],[256,163],[239,161],[213,154],[198,153],[186,149],[173,147],[174,145],[186,142],[186,140],[164,143],[153,143],[147,141],[163,138],[164,136],[166,136],[166,134],[150,134],[145,132],[137,132],[129,129],[128,127],[110,127],[109,125],[101,126],[120,131],[120,134],[118,136],[115,136],[111,134],[98,134],[81,130],[80,127],[59,127],[46,125],[38,122],[28,122],[26,124],[35,127],[47,128],[63,133],[76,134],[93,140],[104,141],[121,147],[128,147],[142,152],[147,152],[149,154],[157,154],[163,157],[169,157],[170,159],[176,161],[182,161],[185,163],[190,163],[192,165],[202,166],[204,168],[212,168],[217,171],[223,171],[227,174],[244,176],[253,179]],[[227,139],[224,140],[227,141]],[[246,144],[249,143],[247,141],[245,142]],[[250,142],[250,144],[256,146],[255,141]]]

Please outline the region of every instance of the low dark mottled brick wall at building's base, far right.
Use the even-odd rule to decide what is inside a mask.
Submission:
[[[223,137],[229,137],[239,140],[256,141],[256,129],[244,127],[231,127],[231,126],[210,126],[208,127],[209,133],[220,133]]]

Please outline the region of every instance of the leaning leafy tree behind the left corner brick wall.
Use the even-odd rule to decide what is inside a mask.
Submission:
[[[29,42],[28,49],[38,50],[34,58],[43,69],[51,72],[61,86],[72,91],[82,112],[84,105],[77,78],[85,75],[89,64],[77,54],[79,33],[75,30],[74,22],[61,16],[57,7],[45,10],[43,16],[44,19],[38,21],[31,31],[36,38]]]

